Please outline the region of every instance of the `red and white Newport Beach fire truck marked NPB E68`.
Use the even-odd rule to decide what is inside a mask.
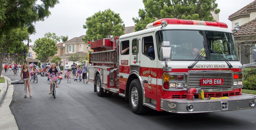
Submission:
[[[118,93],[136,114],[256,107],[256,97],[241,93],[242,65],[225,23],[165,18],[146,28],[91,42],[88,81],[99,97]]]

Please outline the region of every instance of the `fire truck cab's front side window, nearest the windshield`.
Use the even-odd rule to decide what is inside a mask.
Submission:
[[[155,60],[155,50],[153,43],[153,36],[143,37],[143,54],[150,58],[150,60]]]

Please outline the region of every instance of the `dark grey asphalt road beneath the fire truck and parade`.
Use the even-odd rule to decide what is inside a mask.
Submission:
[[[20,80],[19,73],[3,73]],[[176,129],[256,129],[256,109],[176,114],[150,109],[148,113],[132,113],[129,102],[118,94],[98,97],[92,84],[61,80],[56,99],[50,94],[47,77],[30,81],[32,98],[24,98],[24,85],[14,85],[10,108],[20,130],[176,130]]]

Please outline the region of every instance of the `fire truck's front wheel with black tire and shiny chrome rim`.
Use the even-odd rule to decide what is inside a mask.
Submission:
[[[144,114],[147,112],[147,107],[143,105],[143,95],[140,81],[134,79],[129,88],[129,103],[132,112],[135,114]]]

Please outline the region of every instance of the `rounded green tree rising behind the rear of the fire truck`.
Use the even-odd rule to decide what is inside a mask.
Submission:
[[[88,41],[106,38],[108,35],[121,36],[124,34],[125,25],[119,14],[107,9],[94,13],[91,17],[86,18],[85,39]]]

